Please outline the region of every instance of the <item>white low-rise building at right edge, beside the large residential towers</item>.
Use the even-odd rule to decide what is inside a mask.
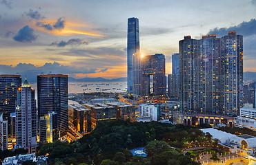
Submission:
[[[256,131],[256,109],[243,107],[240,116],[234,118],[234,125]]]

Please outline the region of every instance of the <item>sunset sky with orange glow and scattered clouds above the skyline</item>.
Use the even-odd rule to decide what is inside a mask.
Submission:
[[[256,72],[256,0],[0,0],[0,74],[127,76],[127,19],[141,54],[163,53],[166,75],[190,35],[244,36],[244,72]]]

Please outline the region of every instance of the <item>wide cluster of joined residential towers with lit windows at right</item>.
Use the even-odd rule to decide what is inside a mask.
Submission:
[[[242,36],[203,36],[200,40],[185,36],[179,41],[179,96],[184,122],[222,123],[217,115],[237,116],[242,107],[243,83]],[[216,115],[199,120],[199,114]],[[195,115],[195,116],[194,116]],[[233,124],[230,123],[230,124]]]

